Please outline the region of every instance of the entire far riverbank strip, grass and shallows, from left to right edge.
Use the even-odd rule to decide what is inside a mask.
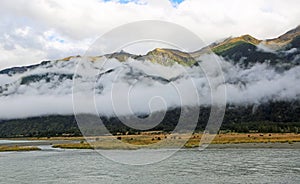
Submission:
[[[207,135],[207,134],[206,134]],[[197,148],[205,141],[203,134],[141,134],[122,136],[98,137],[53,137],[53,138],[20,138],[6,139],[7,143],[0,144],[0,148],[11,147],[7,151],[15,151],[31,146],[51,145],[62,149],[160,149],[160,148]],[[300,134],[294,133],[266,133],[266,134],[217,134],[207,148],[292,148],[300,149]],[[1,142],[1,139],[0,139]],[[18,148],[18,149],[17,149]],[[37,150],[37,149],[32,149]],[[29,149],[28,151],[32,151]]]

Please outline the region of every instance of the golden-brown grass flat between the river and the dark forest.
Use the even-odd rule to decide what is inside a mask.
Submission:
[[[159,134],[89,137],[88,141],[55,144],[53,147],[65,149],[140,149],[172,148],[183,145],[185,148],[200,146],[202,134]],[[246,144],[246,143],[289,143],[300,142],[300,134],[217,134],[211,144]],[[117,139],[118,138],[118,139]],[[79,140],[79,138],[73,138]],[[205,140],[204,140],[205,142]],[[203,143],[203,140],[202,140]]]

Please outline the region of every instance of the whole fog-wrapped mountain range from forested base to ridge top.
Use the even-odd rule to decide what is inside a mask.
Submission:
[[[148,117],[164,108],[166,117],[153,130],[170,131],[182,107],[192,112],[196,106],[204,109],[197,125],[197,130],[203,130],[211,89],[222,93],[224,85],[223,129],[294,132],[300,128],[299,29],[270,40],[230,37],[191,53],[166,48],[145,55],[120,51],[4,69],[0,71],[0,137],[78,135],[72,116],[76,95],[79,113],[89,113],[87,99],[93,96],[93,107],[114,133],[137,131],[124,126],[119,117]],[[163,104],[153,101],[158,96]]]

